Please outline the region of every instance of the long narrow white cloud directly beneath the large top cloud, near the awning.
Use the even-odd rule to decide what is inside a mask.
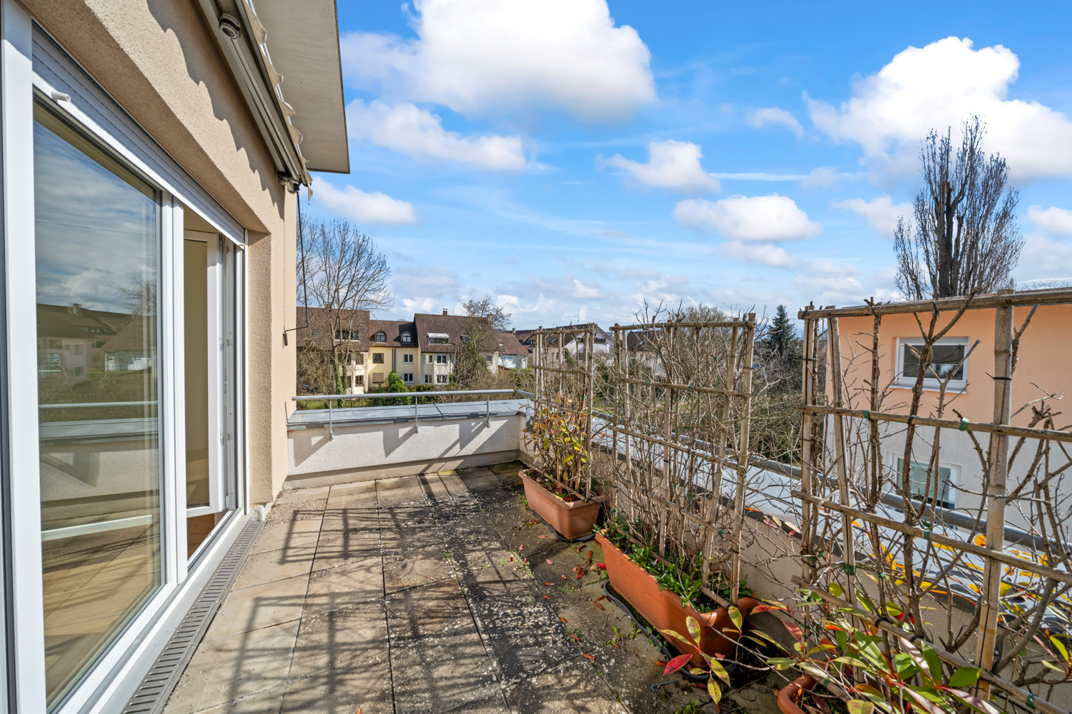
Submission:
[[[463,162],[498,171],[520,171],[526,163],[521,137],[466,137],[448,132],[437,115],[408,102],[391,105],[354,100],[346,107],[346,131],[356,140],[414,158]]]

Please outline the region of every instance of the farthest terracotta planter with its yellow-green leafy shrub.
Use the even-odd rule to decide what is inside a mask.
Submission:
[[[525,499],[551,528],[572,541],[592,532],[604,497],[591,493],[587,412],[568,399],[539,409],[525,432],[535,469],[519,474]],[[582,491],[583,489],[583,491]]]

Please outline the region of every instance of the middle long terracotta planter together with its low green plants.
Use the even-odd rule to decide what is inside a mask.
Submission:
[[[596,541],[602,546],[611,586],[656,629],[685,633],[693,631],[689,618],[697,623],[695,650],[689,657],[694,666],[703,667],[708,657],[725,657],[733,652],[744,618],[759,606],[759,601],[744,596],[735,607],[720,607],[700,591],[703,579],[698,561],[660,561],[651,547],[630,544],[617,529],[596,533]],[[670,642],[682,651],[680,642]]]

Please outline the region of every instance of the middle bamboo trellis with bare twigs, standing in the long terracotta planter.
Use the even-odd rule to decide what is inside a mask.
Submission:
[[[735,603],[756,316],[615,324],[612,332],[609,446],[614,483],[628,493],[629,516],[646,515],[660,558],[670,547],[698,552],[703,592],[725,602],[711,579],[717,567],[730,580],[729,601]],[[727,510],[721,485],[731,466],[736,483],[732,498],[725,499]],[[723,573],[727,564],[729,573]]]

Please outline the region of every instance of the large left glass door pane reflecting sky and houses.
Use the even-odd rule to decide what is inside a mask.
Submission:
[[[161,584],[157,192],[34,109],[49,705]],[[81,406],[84,405],[84,406]]]

